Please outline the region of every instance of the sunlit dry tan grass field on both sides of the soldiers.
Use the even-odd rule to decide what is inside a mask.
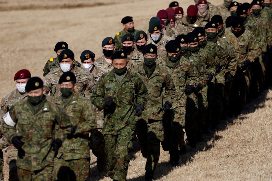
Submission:
[[[42,77],[43,66],[56,42],[65,41],[75,59],[89,49],[102,55],[101,42],[123,29],[121,19],[133,16],[135,28],[147,30],[149,19],[172,0],[0,0],[0,96],[15,89],[14,74],[28,69]],[[186,9],[193,0],[178,1]],[[210,0],[219,5],[223,0]],[[240,0],[239,2],[250,2]],[[222,120],[220,130],[206,135],[196,148],[186,145],[181,165],[172,168],[169,154],[162,151],[156,180],[272,180],[271,154],[272,90],[247,105],[238,118]],[[144,159],[131,154],[128,180],[144,179]],[[97,173],[95,158],[90,180],[111,180]]]

